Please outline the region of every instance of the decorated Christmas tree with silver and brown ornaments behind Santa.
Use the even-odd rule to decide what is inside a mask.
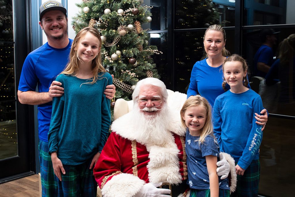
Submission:
[[[141,28],[152,20],[150,6],[142,0],[83,0],[76,6],[81,11],[73,17],[74,30],[89,26],[101,34],[102,63],[114,74],[116,98],[130,99],[140,79],[159,77],[151,55],[161,52],[148,45],[149,34]]]

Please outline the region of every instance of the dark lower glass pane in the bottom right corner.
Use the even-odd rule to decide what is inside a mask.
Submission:
[[[269,117],[260,146],[259,193],[294,196],[295,121]]]

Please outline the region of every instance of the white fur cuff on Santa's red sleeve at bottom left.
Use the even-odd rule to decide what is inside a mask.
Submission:
[[[111,180],[106,182],[101,189],[101,193],[104,197],[132,197],[140,191],[144,184],[144,180],[141,180],[132,174],[122,173],[114,175]]]

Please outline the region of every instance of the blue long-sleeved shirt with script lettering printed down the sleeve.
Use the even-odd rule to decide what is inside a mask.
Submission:
[[[214,135],[220,151],[229,153],[244,170],[253,159],[259,159],[263,132],[254,117],[261,110],[261,97],[251,89],[240,94],[228,90],[214,103]]]

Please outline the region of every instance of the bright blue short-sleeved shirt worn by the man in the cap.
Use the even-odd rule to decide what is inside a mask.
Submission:
[[[71,39],[65,48],[53,48],[48,43],[32,51],[24,61],[18,89],[23,92],[48,92],[50,84],[60,74],[68,63],[72,45]],[[38,131],[39,139],[47,140],[52,102],[38,105]]]

